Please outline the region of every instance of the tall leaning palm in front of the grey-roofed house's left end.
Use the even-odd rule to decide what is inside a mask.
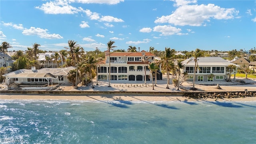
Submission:
[[[202,57],[204,55],[203,51],[201,51],[200,49],[196,49],[195,52],[193,53],[193,57],[187,62],[187,64],[189,62],[191,62],[192,60],[194,60],[195,62],[195,67],[194,67],[194,77],[193,77],[193,87],[191,88],[191,90],[196,90],[197,88],[195,88],[195,79],[196,79],[196,71],[198,67],[198,58]]]

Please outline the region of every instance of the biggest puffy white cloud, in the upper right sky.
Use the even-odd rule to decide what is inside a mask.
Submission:
[[[184,0],[182,0],[182,2],[184,2]],[[194,3],[194,1],[190,1],[190,3]],[[202,26],[204,21],[210,20],[210,18],[228,20],[235,18],[234,15],[239,13],[239,11],[234,8],[221,8],[214,4],[179,5],[180,6],[172,14],[157,18],[155,23],[170,23],[178,26]]]

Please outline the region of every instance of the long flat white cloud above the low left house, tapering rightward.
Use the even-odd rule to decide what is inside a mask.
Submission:
[[[63,38],[59,34],[48,34],[47,31],[48,31],[47,29],[30,27],[30,29],[23,30],[22,34],[24,34],[24,35],[37,35],[40,38],[47,38],[47,39]]]

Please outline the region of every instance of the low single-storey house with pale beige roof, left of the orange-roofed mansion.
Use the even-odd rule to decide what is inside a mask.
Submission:
[[[76,69],[73,66],[66,68],[42,68],[36,70],[34,66],[29,69],[20,69],[8,74],[4,74],[6,83],[9,84],[64,84],[70,83],[68,72]]]

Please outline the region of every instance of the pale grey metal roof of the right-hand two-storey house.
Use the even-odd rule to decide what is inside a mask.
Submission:
[[[232,62],[228,62],[226,61],[225,59],[219,57],[219,56],[216,56],[216,57],[213,57],[213,56],[210,56],[210,57],[199,57],[198,58],[198,65],[200,66],[213,66],[213,65],[219,65],[219,66],[228,66],[230,64],[232,65],[235,65],[237,67],[240,67]],[[191,57],[191,58],[188,58],[184,61],[182,61],[182,64],[186,65],[186,66],[194,66],[195,65],[195,62],[194,62],[194,57]]]

